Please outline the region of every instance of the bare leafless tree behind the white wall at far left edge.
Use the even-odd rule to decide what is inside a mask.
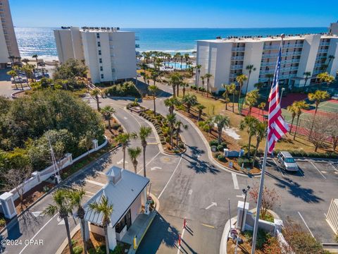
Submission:
[[[28,166],[20,169],[9,169],[4,174],[4,183],[3,191],[11,191],[15,189],[16,193],[19,195],[20,208],[23,210],[23,194],[25,194],[25,188],[27,185],[27,180],[32,176],[32,169]]]

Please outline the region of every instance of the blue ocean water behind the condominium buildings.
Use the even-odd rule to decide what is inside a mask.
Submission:
[[[44,59],[57,59],[53,30],[56,28],[15,28],[20,54],[37,54]],[[327,28],[125,28],[136,32],[139,52],[157,50],[175,54],[192,53],[196,40],[215,39],[217,36],[286,35],[327,32]]]

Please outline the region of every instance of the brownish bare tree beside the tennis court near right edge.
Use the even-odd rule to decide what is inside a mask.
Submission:
[[[318,147],[323,147],[327,138],[329,138],[331,121],[332,119],[327,116],[317,116],[313,119],[313,128],[309,132],[308,141],[315,146],[315,152],[317,152]]]

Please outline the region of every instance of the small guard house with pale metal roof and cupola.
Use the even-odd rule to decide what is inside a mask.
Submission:
[[[104,195],[109,204],[113,205],[111,224],[108,226],[109,248],[113,250],[116,241],[123,241],[132,245],[134,236],[142,230],[143,225],[153,216],[146,205],[146,186],[149,179],[131,171],[113,166],[107,173],[108,183],[84,204],[86,238],[89,231],[104,236],[101,224],[103,214],[89,209],[92,202],[100,202]],[[152,221],[152,219],[151,219]]]

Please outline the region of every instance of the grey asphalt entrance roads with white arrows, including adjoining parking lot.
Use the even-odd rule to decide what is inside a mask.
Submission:
[[[165,92],[156,99],[157,110],[167,114],[163,105],[165,97],[170,95],[170,87],[161,86]],[[88,100],[92,107],[96,103]],[[152,101],[142,102],[153,107]],[[101,99],[101,106],[112,105],[115,116],[129,132],[137,132],[139,126],[147,125],[144,119],[125,109],[127,101]],[[177,116],[180,119],[180,116]],[[237,176],[218,168],[209,161],[205,147],[193,126],[180,119],[189,127],[182,132],[187,152],[184,155],[165,155],[158,149],[155,134],[149,137],[146,150],[147,177],[151,179],[151,193],[160,201],[160,210],[137,253],[219,253],[223,227],[230,216],[236,215],[237,201],[242,200],[242,188],[253,186],[259,178]],[[140,145],[139,140],[130,146]],[[90,198],[106,183],[103,175],[113,164],[122,166],[121,149],[111,152],[89,165],[82,174],[72,181],[63,183],[70,188],[84,188],[86,199]],[[140,165],[141,164],[141,165]],[[142,163],[139,174],[142,174]],[[265,175],[265,184],[275,188],[280,194],[280,204],[275,211],[282,219],[291,217],[302,224],[311,234],[323,242],[332,242],[333,231],[325,222],[331,198],[337,190],[337,169],[332,164],[318,162],[299,162],[302,169],[299,174],[282,171],[277,164],[269,160]],[[332,166],[332,167],[331,167]],[[132,170],[127,159],[126,168]],[[51,202],[51,195],[38,202],[18,223],[2,236],[21,240],[41,239],[39,246],[6,246],[5,253],[55,253],[65,239],[63,222],[56,217],[39,214]],[[250,209],[255,207],[249,200]],[[182,229],[183,219],[187,219],[187,229]],[[77,222],[70,218],[71,229]],[[182,246],[178,248],[178,234],[182,237]]]

